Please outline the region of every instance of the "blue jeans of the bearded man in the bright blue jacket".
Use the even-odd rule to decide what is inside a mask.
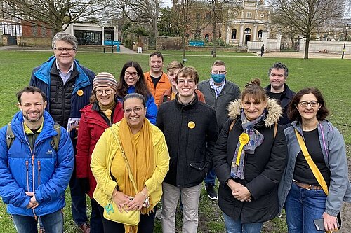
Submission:
[[[45,216],[40,216],[41,222],[47,233],[62,233],[63,232],[63,213],[58,210],[54,213],[49,213]],[[37,222],[32,216],[12,215],[13,224],[18,233],[37,233]]]

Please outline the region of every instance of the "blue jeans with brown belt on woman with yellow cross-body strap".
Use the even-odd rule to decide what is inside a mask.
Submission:
[[[285,201],[289,233],[318,233],[313,220],[322,218],[325,209],[326,195],[323,190],[306,190],[292,183]]]

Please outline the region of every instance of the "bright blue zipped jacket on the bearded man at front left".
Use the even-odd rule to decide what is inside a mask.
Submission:
[[[6,144],[7,125],[0,129],[0,196],[8,204],[7,211],[21,216],[43,216],[65,206],[65,190],[74,166],[72,141],[61,127],[57,151],[53,148],[53,136],[58,133],[53,118],[44,111],[43,129],[37,136],[33,150],[25,134],[22,112],[11,121],[15,135],[12,146]],[[39,206],[27,209],[34,192]]]

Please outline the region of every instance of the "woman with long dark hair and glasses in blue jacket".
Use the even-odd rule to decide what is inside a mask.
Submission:
[[[146,99],[146,118],[154,125],[157,117],[157,106],[154,103],[154,97],[145,83],[143,70],[138,62],[129,61],[124,64],[119,83],[117,86],[117,96],[119,101],[126,94],[138,93],[142,94]]]

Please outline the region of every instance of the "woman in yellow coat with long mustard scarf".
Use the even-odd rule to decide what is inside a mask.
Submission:
[[[145,98],[127,94],[123,101],[124,118],[100,137],[91,159],[91,170],[97,181],[93,197],[100,213],[114,202],[114,211],[140,211],[136,226],[102,219],[105,232],[153,232],[154,215],[161,199],[161,183],[166,176],[169,155],[164,134],[147,118]],[[118,141],[117,141],[118,140]],[[121,151],[131,167],[135,188]]]

